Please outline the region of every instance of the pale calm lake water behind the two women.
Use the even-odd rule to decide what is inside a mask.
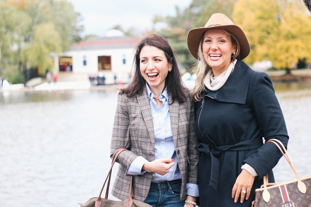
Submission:
[[[274,86],[288,152],[299,176],[311,174],[311,84]],[[78,207],[98,196],[111,163],[117,93],[0,92],[0,206]],[[295,178],[284,158],[274,172],[276,182]]]

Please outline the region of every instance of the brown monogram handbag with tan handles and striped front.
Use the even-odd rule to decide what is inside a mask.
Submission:
[[[268,183],[268,175],[263,177],[263,185],[255,190],[252,207],[311,207],[311,175],[299,177],[283,143],[270,139],[290,164],[297,179],[284,183]]]

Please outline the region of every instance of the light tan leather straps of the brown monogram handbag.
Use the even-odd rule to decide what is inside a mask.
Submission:
[[[279,149],[279,151],[282,153],[282,155],[285,157],[286,161],[289,163],[289,165],[291,166],[296,178],[297,178],[297,187],[298,187],[298,190],[302,193],[306,193],[307,191],[307,187],[306,185],[301,181],[301,179],[299,178],[297,172],[296,172],[296,169],[294,168],[294,164],[290,158],[290,156],[288,155],[287,153],[287,150],[285,148],[285,146],[283,145],[283,143],[278,140],[278,139],[275,139],[275,138],[272,138],[272,139],[269,139],[267,142],[271,142],[271,143],[274,143],[276,145],[276,147]],[[262,198],[265,202],[269,202],[270,200],[270,193],[268,192],[267,190],[267,183],[268,183],[268,174],[265,175],[263,177],[263,192],[262,192]]]

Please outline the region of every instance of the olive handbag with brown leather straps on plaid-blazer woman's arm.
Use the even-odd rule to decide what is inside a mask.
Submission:
[[[109,191],[109,184],[110,184],[112,167],[113,167],[114,163],[116,162],[117,157],[120,155],[120,153],[125,151],[125,150],[127,150],[127,149],[120,148],[120,149],[116,150],[116,152],[113,154],[112,164],[111,164],[109,173],[108,173],[108,175],[104,181],[104,185],[102,187],[101,192],[99,193],[98,198],[96,198],[96,197],[91,198],[88,201],[86,201],[86,203],[80,204],[80,207],[152,207],[149,204],[135,200],[133,186],[132,186],[132,176],[131,176],[130,194],[129,194],[129,198],[127,200],[113,201],[113,200],[108,199],[108,191]],[[102,199],[101,195],[102,195],[102,192],[104,190],[104,186],[106,184],[107,179],[108,179],[108,183],[107,183],[107,188],[106,188],[106,195],[105,195],[105,198]]]

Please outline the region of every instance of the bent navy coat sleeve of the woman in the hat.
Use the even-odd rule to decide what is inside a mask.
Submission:
[[[276,138],[287,147],[289,137],[270,77],[266,73],[253,72],[249,86],[250,104],[265,142]],[[243,164],[252,166],[260,179],[276,166],[281,156],[277,147],[268,142],[248,156]]]

